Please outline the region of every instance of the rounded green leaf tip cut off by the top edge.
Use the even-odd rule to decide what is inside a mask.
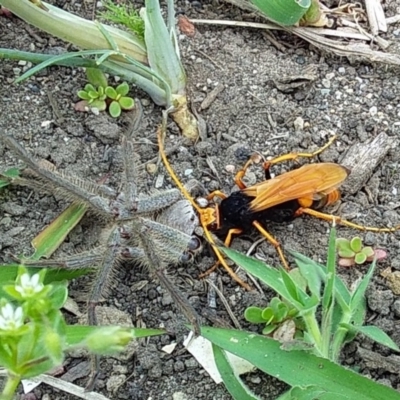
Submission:
[[[268,18],[282,25],[300,21],[311,5],[311,0],[251,0]]]

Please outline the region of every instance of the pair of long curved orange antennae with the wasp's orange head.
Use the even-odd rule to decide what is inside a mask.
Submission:
[[[200,208],[198,204],[194,201],[190,193],[187,191],[187,189],[184,187],[184,185],[180,182],[178,177],[175,174],[175,171],[172,169],[168,158],[165,154],[164,150],[164,138],[166,135],[166,123],[167,123],[167,113],[163,113],[163,120],[162,124],[160,125],[158,132],[157,132],[157,138],[158,138],[158,145],[159,145],[159,151],[161,158],[163,160],[165,169],[168,171],[169,175],[171,176],[172,180],[175,182],[175,185],[179,188],[179,190],[182,192],[182,194],[188,199],[193,208],[198,212],[199,214],[199,219],[200,219],[200,224],[203,228],[204,235],[206,236],[207,241],[211,244],[215,255],[217,256],[219,262],[221,265],[226,269],[228,274],[232,277],[232,279],[237,282],[240,286],[244,287],[246,290],[251,290],[250,286],[243,282],[236,274],[235,272],[232,271],[232,269],[229,267],[229,265],[226,263],[224,256],[222,255],[221,251],[218,249],[214,238],[211,235],[210,230],[208,229],[208,226],[210,223],[215,221],[215,216],[214,216],[214,209],[213,208]],[[215,192],[214,192],[215,193]]]

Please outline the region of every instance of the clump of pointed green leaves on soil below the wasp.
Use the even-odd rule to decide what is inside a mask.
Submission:
[[[222,250],[279,296],[264,309],[250,307],[246,310],[249,320],[262,323],[265,334],[277,330],[277,325],[283,320],[295,321],[294,325],[286,324],[289,334],[281,335],[284,337],[281,343],[250,332],[202,329],[202,335],[214,344],[217,366],[234,399],[258,397],[233,373],[225,351],[250,361],[267,374],[289,384],[292,389],[283,395],[285,399],[299,395],[319,399],[400,399],[396,391],[338,365],[341,349],[357,334],[394,351],[400,349],[380,328],[363,325],[367,309],[365,291],[376,262],[349,290],[336,274],[335,242],[336,229],[333,227],[326,266],[291,252],[297,272],[272,268],[232,249]]]

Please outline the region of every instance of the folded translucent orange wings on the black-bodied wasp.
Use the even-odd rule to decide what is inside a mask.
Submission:
[[[340,186],[348,174],[349,171],[339,164],[307,164],[243,189],[242,192],[254,197],[250,209],[257,212],[286,201],[314,199],[318,194],[329,194]]]

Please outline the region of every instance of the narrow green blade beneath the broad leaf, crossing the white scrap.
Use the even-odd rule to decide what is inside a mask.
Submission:
[[[225,387],[235,400],[260,400],[234,373],[226,353],[213,344],[214,361]]]

